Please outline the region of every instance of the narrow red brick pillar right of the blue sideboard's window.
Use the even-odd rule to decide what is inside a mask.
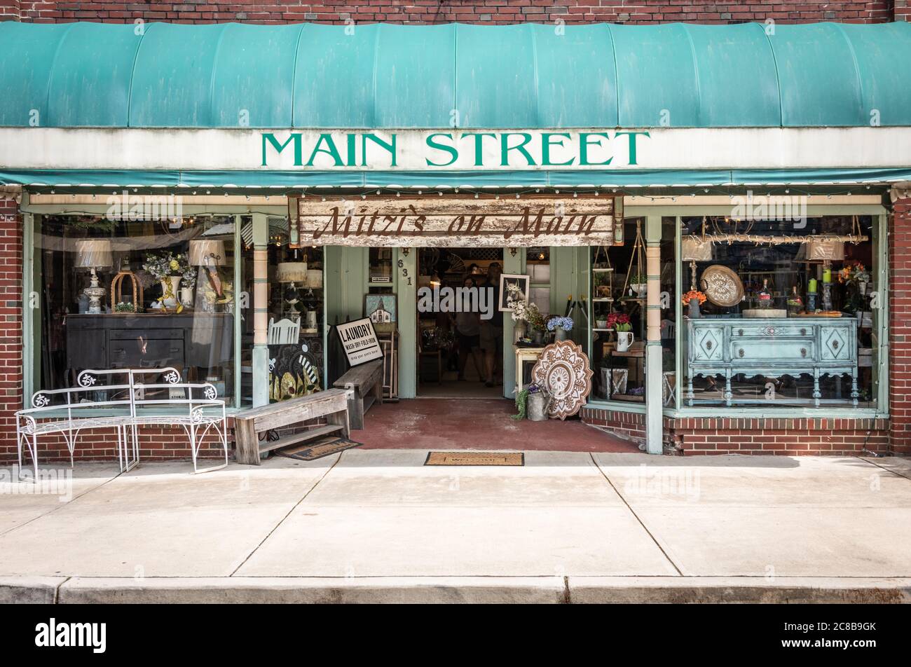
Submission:
[[[889,220],[889,415],[892,450],[911,454],[911,200]]]

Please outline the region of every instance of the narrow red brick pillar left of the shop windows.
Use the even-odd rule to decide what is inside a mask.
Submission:
[[[15,456],[15,411],[22,407],[22,215],[0,199],[0,460]]]

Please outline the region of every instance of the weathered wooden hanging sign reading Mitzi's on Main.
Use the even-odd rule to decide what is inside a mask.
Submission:
[[[370,247],[585,246],[614,241],[614,196],[297,200],[300,242]]]

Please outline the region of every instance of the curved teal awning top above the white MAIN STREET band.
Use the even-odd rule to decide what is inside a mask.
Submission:
[[[907,23],[7,22],[0,126],[911,126],[909,62]]]

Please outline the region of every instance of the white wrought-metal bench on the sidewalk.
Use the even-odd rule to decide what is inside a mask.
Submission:
[[[126,382],[99,384],[101,378],[124,376]],[[140,380],[152,378],[152,383]],[[176,368],[138,368],[83,371],[77,386],[48,389],[32,396],[32,407],[16,417],[19,471],[22,450],[32,456],[38,475],[38,436],[62,436],[69,450],[70,466],[79,433],[86,429],[113,428],[118,436],[118,463],[127,471],[138,463],[139,426],[180,426],[187,434],[194,472],[209,472],[228,465],[228,428],[225,402],[209,383],[182,383]],[[163,380],[163,382],[161,382]],[[126,411],[126,414],[123,412]],[[197,457],[205,436],[214,432],[224,449],[225,461],[200,470]]]

